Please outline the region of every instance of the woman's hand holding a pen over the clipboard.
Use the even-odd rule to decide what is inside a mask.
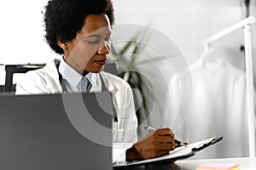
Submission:
[[[160,128],[148,133],[143,139],[126,150],[126,161],[145,160],[165,156],[177,144],[170,128]]]

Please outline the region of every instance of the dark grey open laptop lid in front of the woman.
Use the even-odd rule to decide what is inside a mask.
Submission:
[[[0,106],[0,169],[113,168],[108,92],[5,94]]]

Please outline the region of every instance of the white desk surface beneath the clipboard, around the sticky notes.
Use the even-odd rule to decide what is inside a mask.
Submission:
[[[160,163],[148,166],[137,167],[125,167],[122,169],[132,170],[195,170],[198,165],[204,163],[238,163],[240,169],[255,170],[256,169],[256,157],[242,157],[242,158],[225,158],[225,159],[205,159],[205,160],[183,160],[176,161],[175,163]]]

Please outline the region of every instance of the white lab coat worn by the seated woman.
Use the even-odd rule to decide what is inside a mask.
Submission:
[[[96,73],[93,73],[96,74]],[[113,162],[125,161],[125,150],[137,141],[137,116],[135,112],[131,88],[123,79],[102,71],[106,88],[112,94],[113,105],[117,111],[119,141],[125,144],[113,144]],[[102,82],[96,74],[96,87],[91,92],[101,92]],[[62,93],[58,71],[54,61],[43,69],[28,71],[16,85],[15,94],[60,94]],[[113,127],[113,139],[116,139],[116,129]]]

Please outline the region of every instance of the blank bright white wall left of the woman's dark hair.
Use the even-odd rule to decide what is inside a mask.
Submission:
[[[43,14],[47,0],[9,0],[0,6],[0,64],[45,63],[55,56],[44,42]],[[0,66],[0,84],[4,83]]]

